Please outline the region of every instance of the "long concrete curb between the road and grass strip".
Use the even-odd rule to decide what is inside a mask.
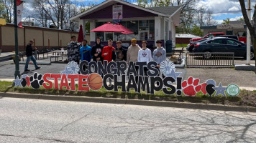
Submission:
[[[0,92],[0,97],[23,98],[23,99],[45,99],[45,100],[60,100],[73,102],[95,102],[108,104],[130,104],[143,105],[155,107],[175,107],[185,109],[206,109],[206,110],[221,110],[233,112],[256,112],[255,107],[236,107],[225,106],[219,104],[195,104],[186,102],[166,102],[166,101],[152,101],[140,99],[116,99],[104,97],[78,97],[78,96],[63,96],[63,95],[45,95],[45,94],[24,94],[24,93],[4,93]]]

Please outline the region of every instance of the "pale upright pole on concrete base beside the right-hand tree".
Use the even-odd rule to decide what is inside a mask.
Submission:
[[[251,22],[251,0],[248,0],[248,9],[247,9],[247,15],[248,15],[248,18]],[[250,65],[250,60],[251,60],[251,35],[250,35],[250,31],[247,27],[247,52],[246,52],[246,64],[247,65]]]

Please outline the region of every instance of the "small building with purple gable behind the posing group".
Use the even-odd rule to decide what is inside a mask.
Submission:
[[[107,0],[70,20],[79,21],[84,25],[90,22],[90,30],[105,24],[108,21],[117,21],[134,34],[119,34],[108,32],[91,32],[91,45],[95,44],[96,37],[100,36],[104,45],[108,39],[129,41],[130,39],[147,40],[148,44],[155,45],[157,40],[172,40],[175,46],[175,26],[180,23],[181,6],[166,6],[144,8],[121,0]],[[116,14],[116,15],[115,15]],[[79,24],[79,25],[80,25]],[[164,42],[163,42],[164,43]],[[163,44],[164,45],[164,44]]]

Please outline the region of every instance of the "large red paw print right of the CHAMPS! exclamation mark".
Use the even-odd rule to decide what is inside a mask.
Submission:
[[[200,92],[202,86],[199,84],[200,79],[188,77],[188,81],[183,81],[181,86],[183,87],[183,93],[188,96],[195,96],[197,92]]]

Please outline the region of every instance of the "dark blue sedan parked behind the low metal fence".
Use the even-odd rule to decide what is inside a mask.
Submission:
[[[226,37],[216,37],[195,42],[192,51],[206,52],[206,54],[204,54],[205,59],[209,59],[211,57],[211,52],[234,52],[234,56],[246,57],[247,48],[246,44],[242,43],[241,41]],[[255,58],[252,46],[250,55],[251,59]]]

